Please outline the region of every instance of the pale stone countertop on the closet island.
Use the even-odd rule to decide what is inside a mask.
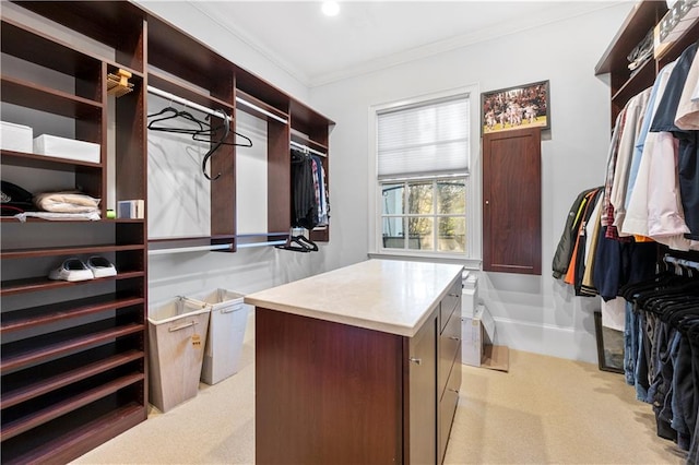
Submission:
[[[463,266],[368,260],[253,293],[245,302],[412,337]]]

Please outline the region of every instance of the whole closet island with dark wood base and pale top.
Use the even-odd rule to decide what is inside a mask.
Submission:
[[[462,269],[369,260],[246,296],[256,463],[441,463],[461,384]]]

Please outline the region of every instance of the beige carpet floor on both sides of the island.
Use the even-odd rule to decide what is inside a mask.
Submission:
[[[253,463],[253,349],[248,334],[237,374],[74,463]],[[460,396],[447,464],[685,463],[651,406],[596,365],[511,350],[508,373],[463,366]]]

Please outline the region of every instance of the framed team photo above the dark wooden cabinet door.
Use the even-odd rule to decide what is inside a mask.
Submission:
[[[550,129],[548,81],[481,94],[481,133],[530,127]]]

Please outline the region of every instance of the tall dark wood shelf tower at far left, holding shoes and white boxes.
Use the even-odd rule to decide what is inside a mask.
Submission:
[[[37,25],[36,16],[17,4],[50,27]],[[52,135],[100,145],[98,163],[2,150],[1,164],[37,170],[38,179],[46,171],[63,180],[72,176],[74,186],[59,188],[99,199],[112,191],[116,200],[146,200],[145,14],[129,2],[15,2],[1,13],[2,103],[25,109],[25,118],[36,119],[38,127],[45,117],[73,120],[72,131]],[[114,51],[104,57],[87,51],[84,37]],[[5,62],[4,56],[12,60]],[[35,81],[34,70],[40,69],[46,72],[36,72]],[[118,69],[133,74],[134,88],[112,98],[106,79]],[[42,76],[56,73],[56,83]],[[108,140],[109,115],[116,115],[114,141]],[[110,177],[109,150],[116,165]],[[51,179],[46,177],[46,190],[57,188]],[[0,284],[3,463],[69,462],[146,419],[146,224],[2,218],[0,258],[19,273]],[[84,238],[80,247],[76,238]],[[47,263],[88,254],[108,257],[118,274],[48,279]]]

